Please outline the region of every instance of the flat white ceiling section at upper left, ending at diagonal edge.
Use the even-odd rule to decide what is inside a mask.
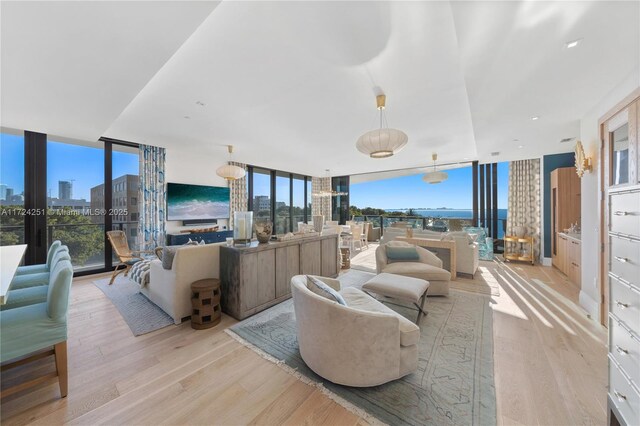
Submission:
[[[2,1],[0,123],[97,140],[216,5]]]

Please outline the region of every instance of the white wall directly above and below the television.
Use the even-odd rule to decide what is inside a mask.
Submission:
[[[227,181],[216,175],[216,169],[226,163],[226,152],[223,155],[203,154],[197,149],[167,148],[165,181],[173,183],[190,183],[194,185],[228,186]],[[220,229],[228,225],[227,220],[219,219]],[[202,225],[201,227],[208,227]],[[197,225],[187,228],[197,228]],[[168,221],[167,233],[180,232],[181,221]]]

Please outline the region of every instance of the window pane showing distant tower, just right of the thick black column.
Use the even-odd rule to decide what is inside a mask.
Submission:
[[[47,246],[69,247],[75,270],[105,268],[104,221],[91,209],[94,188],[104,187],[102,143],[47,138]]]

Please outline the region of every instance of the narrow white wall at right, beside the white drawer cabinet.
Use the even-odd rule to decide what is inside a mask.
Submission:
[[[592,158],[593,172],[585,173],[581,180],[582,210],[582,289],[580,304],[592,318],[599,318],[599,200],[598,173],[600,164],[600,135],[598,120],[618,102],[640,86],[640,69],[636,68],[598,105],[580,120],[580,140],[587,156]]]

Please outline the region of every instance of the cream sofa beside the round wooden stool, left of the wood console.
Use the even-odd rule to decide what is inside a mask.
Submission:
[[[149,283],[140,292],[180,324],[191,316],[191,284],[205,278],[220,278],[220,246],[225,243],[184,246],[176,250],[171,269],[151,262]]]

